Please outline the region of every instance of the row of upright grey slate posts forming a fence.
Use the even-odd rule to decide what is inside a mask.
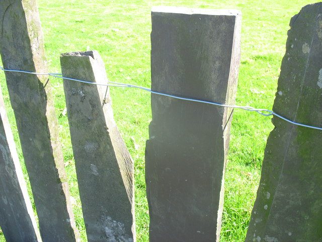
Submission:
[[[0,3],[1,56],[39,218],[34,217],[0,94],[0,226],[10,241],[80,241],[58,139],[35,1]],[[18,14],[17,14],[18,13]],[[233,105],[241,14],[152,9],[151,89]],[[322,127],[322,4],[290,22],[274,111]],[[107,83],[97,51],[60,56],[62,75]],[[64,79],[88,241],[135,241],[133,160],[109,88]],[[231,107],[151,95],[146,142],[150,241],[219,241]],[[312,113],[314,115],[312,115]],[[273,118],[245,241],[322,241],[322,132]],[[99,196],[98,196],[99,194]]]

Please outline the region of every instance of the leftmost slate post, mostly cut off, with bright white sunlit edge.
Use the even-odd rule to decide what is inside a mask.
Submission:
[[[0,226],[7,242],[41,241],[1,89]]]

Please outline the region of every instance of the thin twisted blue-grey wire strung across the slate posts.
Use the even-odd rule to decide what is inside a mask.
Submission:
[[[175,96],[175,95],[171,95],[171,94],[155,92],[155,91],[152,91],[151,89],[146,88],[146,87],[140,87],[140,86],[136,86],[136,85],[132,85],[132,84],[126,84],[126,83],[108,81],[108,83],[112,83],[112,85],[111,85],[111,84],[87,82],[87,81],[82,81],[82,80],[78,80],[78,79],[63,77],[62,74],[60,74],[60,73],[36,73],[36,72],[27,72],[27,71],[18,71],[18,70],[7,70],[7,69],[4,69],[2,66],[0,66],[0,69],[5,71],[5,72],[19,72],[19,73],[27,73],[27,74],[33,74],[33,75],[48,75],[48,76],[52,76],[52,77],[56,77],[56,78],[60,78],[60,79],[66,79],[66,80],[70,80],[70,81],[87,83],[87,84],[92,84],[92,85],[100,85],[100,86],[107,86],[107,87],[137,88],[137,89],[141,89],[141,90],[144,90],[144,91],[156,94],[156,95],[176,98],[176,99],[180,99],[180,100],[199,102],[199,103],[206,103],[206,104],[211,104],[211,105],[216,105],[216,106],[221,106],[221,107],[239,108],[239,109],[243,109],[243,110],[246,110],[246,111],[254,111],[254,112],[257,112],[257,113],[259,113],[259,114],[261,114],[263,116],[266,116],[266,117],[274,115],[274,116],[277,116],[277,117],[285,120],[288,123],[291,123],[292,125],[297,125],[297,126],[301,126],[301,127],[305,127],[305,128],[315,129],[315,130],[322,130],[322,128],[319,128],[319,127],[314,127],[314,126],[309,126],[309,125],[296,123],[296,122],[294,122],[294,121],[292,121],[290,119],[287,119],[287,118],[285,118],[285,117],[283,117],[283,116],[281,116],[281,115],[277,114],[276,112],[274,112],[272,110],[269,110],[269,109],[254,108],[254,107],[251,107],[251,106],[227,105],[227,104],[203,101],[203,100],[198,100],[198,99],[179,97],[179,96]],[[268,112],[268,113],[264,113],[264,112]]]

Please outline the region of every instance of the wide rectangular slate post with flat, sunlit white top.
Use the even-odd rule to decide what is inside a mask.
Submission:
[[[233,104],[236,10],[152,9],[152,90]],[[145,151],[150,241],[219,241],[232,109],[151,96]]]

